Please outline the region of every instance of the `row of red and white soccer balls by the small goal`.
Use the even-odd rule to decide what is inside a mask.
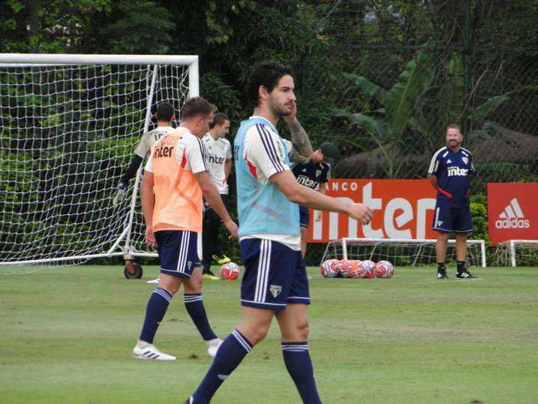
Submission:
[[[374,261],[366,259],[329,259],[320,266],[323,277],[350,277],[350,278],[389,278],[394,275],[394,266],[389,261]]]

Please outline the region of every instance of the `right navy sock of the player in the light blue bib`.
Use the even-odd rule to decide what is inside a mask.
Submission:
[[[282,355],[286,369],[291,375],[295,387],[299,391],[303,403],[321,404],[313,377],[312,361],[308,350],[308,342],[283,342]]]

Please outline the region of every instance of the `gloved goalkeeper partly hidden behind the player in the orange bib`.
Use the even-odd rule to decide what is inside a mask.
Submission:
[[[125,190],[127,189],[127,184],[129,180],[136,175],[138,167],[142,161],[144,161],[146,156],[149,156],[149,153],[152,151],[155,142],[159,140],[165,134],[171,133],[175,129],[172,128],[172,121],[174,120],[174,106],[169,102],[162,102],[157,106],[157,127],[152,131],[149,131],[142,135],[138,145],[136,146],[135,155],[129,167],[122,175],[120,179],[120,184],[117,184],[117,192],[112,200],[112,204],[116,207],[120,202],[122,202],[125,196]]]

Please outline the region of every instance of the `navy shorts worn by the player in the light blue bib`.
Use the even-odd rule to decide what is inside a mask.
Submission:
[[[245,239],[240,252],[245,263],[242,306],[283,310],[288,303],[310,304],[307,269],[300,251],[277,241]]]

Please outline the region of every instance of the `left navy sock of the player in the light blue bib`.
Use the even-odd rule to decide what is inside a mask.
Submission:
[[[252,344],[245,336],[238,330],[232,331],[218,348],[213,364],[193,394],[193,404],[209,403],[222,382],[228,378],[251,350]]]

